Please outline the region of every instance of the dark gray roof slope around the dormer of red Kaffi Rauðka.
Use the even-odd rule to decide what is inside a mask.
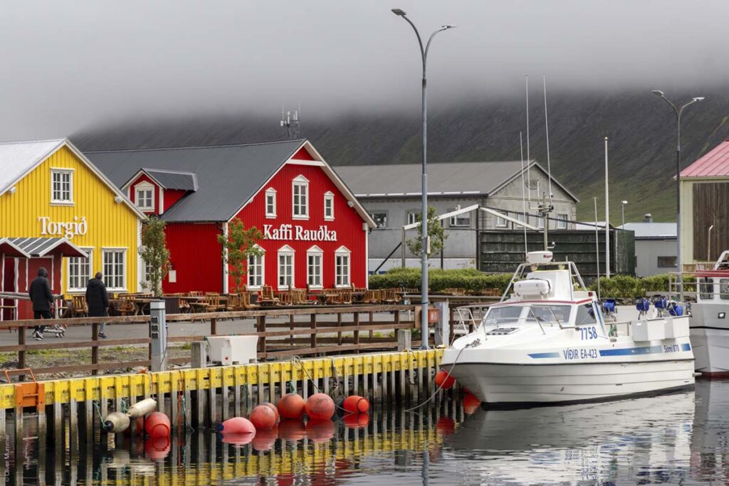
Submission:
[[[265,144],[130,149],[86,152],[114,184],[122,187],[141,168],[195,173],[198,191],[164,213],[171,222],[227,221],[289,159],[302,140]]]

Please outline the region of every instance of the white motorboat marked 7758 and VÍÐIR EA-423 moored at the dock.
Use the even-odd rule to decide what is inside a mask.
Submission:
[[[614,318],[611,306],[602,312],[574,263],[552,262],[549,251],[531,252],[502,301],[491,305],[474,332],[445,350],[442,365],[492,407],[600,401],[693,387],[694,357],[683,308],[660,299],[658,317],[647,318],[647,299],[640,305],[639,320],[606,323],[606,317]]]

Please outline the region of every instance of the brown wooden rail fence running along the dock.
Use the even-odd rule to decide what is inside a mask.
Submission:
[[[327,353],[359,353],[361,351],[397,349],[397,329],[414,329],[412,320],[415,306],[413,305],[362,305],[347,307],[305,307],[305,308],[276,308],[271,310],[243,310],[236,312],[196,313],[196,314],[170,314],[166,315],[168,329],[182,322],[208,321],[209,329],[205,334],[174,335],[168,333],[168,344],[193,342],[204,340],[206,336],[227,335],[219,332],[219,321],[225,319],[254,319],[256,321],[254,332],[234,332],[236,335],[258,336],[258,358],[276,359],[291,356],[316,356]],[[408,313],[408,319],[403,320],[401,313]],[[283,318],[283,319],[281,319]],[[151,339],[136,337],[128,339],[98,339],[98,329],[101,321],[107,325],[149,324],[149,315],[124,317],[85,317],[49,319],[36,321],[32,319],[23,321],[2,321],[1,331],[17,332],[17,345],[0,345],[0,353],[17,353],[17,368],[9,369],[14,375],[28,373],[28,353],[42,350],[78,349],[90,350],[90,363],[55,367],[33,368],[34,375],[44,375],[59,372],[91,372],[97,375],[99,370],[127,369],[130,367],[149,367],[151,364]],[[66,336],[64,339],[46,337],[43,341],[28,342],[28,328],[39,324],[54,326],[56,324],[71,327],[90,326],[90,340],[73,340]],[[117,326],[115,326],[117,327]],[[117,327],[117,329],[119,329]],[[117,334],[115,331],[114,334]],[[383,333],[384,332],[384,333]],[[50,335],[49,335],[50,336]],[[419,346],[420,340],[413,339],[413,347]],[[100,348],[112,346],[146,346],[149,350],[146,359],[135,361],[101,362]],[[79,352],[79,361],[83,361],[83,353]],[[190,363],[190,356],[168,358],[169,364]],[[8,369],[8,367],[4,367]]]

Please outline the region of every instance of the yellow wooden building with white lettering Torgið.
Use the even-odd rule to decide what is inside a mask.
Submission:
[[[67,139],[0,143],[0,293],[27,291],[42,266],[54,294],[82,293],[96,272],[135,292],[143,219]],[[22,300],[0,305],[0,318],[28,315]]]

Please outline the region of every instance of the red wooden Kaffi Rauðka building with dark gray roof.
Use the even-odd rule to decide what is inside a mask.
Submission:
[[[87,155],[137,208],[167,222],[165,292],[233,289],[217,236],[236,218],[264,234],[249,289],[367,286],[375,223],[309,141]]]

